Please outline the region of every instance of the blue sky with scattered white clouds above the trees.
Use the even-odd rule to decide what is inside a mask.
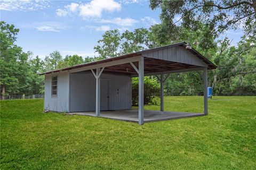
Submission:
[[[34,56],[58,50],[63,56],[97,56],[93,47],[104,31],[149,28],[161,22],[161,10],[151,10],[148,1],[5,1],[0,2],[2,21],[20,29],[17,45]],[[225,33],[236,45],[242,30]],[[225,36],[223,35],[223,36]]]

